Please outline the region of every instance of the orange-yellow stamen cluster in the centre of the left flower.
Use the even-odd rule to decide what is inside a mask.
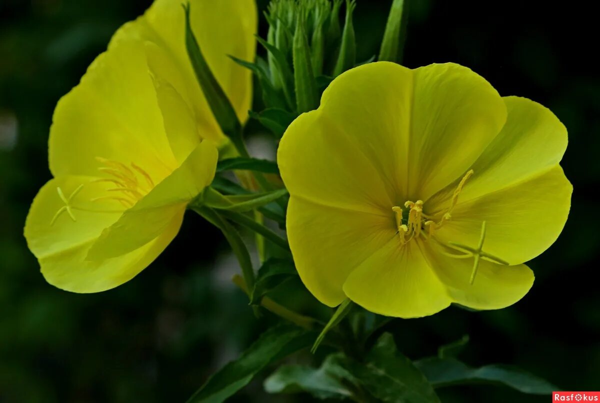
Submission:
[[[141,167],[131,163],[130,167],[118,161],[107,160],[106,158],[96,157],[103,167],[98,168],[100,172],[107,174],[109,178],[98,179],[94,182],[109,182],[114,184],[114,188],[107,189],[109,196],[101,196],[92,199],[96,200],[116,200],[125,207],[132,207],[137,200],[146,196],[154,188],[154,181],[151,176]]]

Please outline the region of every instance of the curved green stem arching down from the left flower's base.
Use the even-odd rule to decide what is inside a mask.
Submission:
[[[215,210],[205,206],[194,206],[190,204],[190,208],[197,212],[200,216],[211,222],[215,227],[219,228],[229,245],[233,250],[233,253],[238,258],[239,266],[242,268],[242,275],[244,275],[245,284],[250,289],[254,288],[254,269],[252,267],[252,261],[250,260],[250,253],[248,248],[244,244],[242,237],[239,236],[238,231],[223,219]]]

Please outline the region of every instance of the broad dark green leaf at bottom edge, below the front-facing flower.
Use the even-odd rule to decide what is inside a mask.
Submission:
[[[365,363],[346,359],[344,368],[382,402],[439,403],[425,376],[397,350],[390,333],[383,333]]]

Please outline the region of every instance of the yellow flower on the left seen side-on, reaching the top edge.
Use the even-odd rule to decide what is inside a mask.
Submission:
[[[254,0],[191,1],[191,24],[241,121],[254,58]],[[89,293],[133,278],[181,226],[187,203],[214,177],[224,136],[185,50],[181,1],[157,0],[122,26],[56,106],[53,179],[25,224],[50,284]]]

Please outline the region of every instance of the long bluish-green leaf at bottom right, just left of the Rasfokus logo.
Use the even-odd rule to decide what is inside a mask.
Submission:
[[[485,365],[471,368],[454,358],[431,357],[415,362],[434,387],[459,384],[500,384],[532,395],[550,395],[560,390],[548,381],[508,365]]]

